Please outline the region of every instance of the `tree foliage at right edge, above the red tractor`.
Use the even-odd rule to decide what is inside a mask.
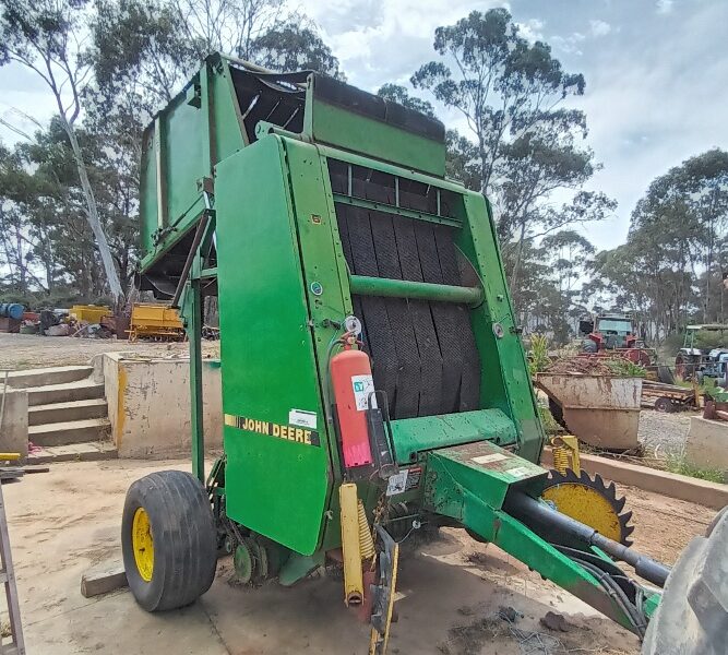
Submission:
[[[690,322],[723,322],[727,227],[728,152],[713,148],[649,184],[626,243],[596,257],[585,294],[640,310],[652,341]]]

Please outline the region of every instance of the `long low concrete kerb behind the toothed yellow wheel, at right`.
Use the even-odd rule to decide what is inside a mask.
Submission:
[[[720,510],[728,505],[728,485],[708,483],[687,475],[658,471],[648,466],[637,466],[586,453],[580,453],[578,458],[584,471],[592,475],[598,473],[606,480],[661,493],[669,498],[695,502],[714,510]],[[553,465],[550,449],[544,450],[541,465],[547,468]]]

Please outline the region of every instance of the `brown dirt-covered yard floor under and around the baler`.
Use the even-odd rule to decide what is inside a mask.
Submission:
[[[56,464],[50,473],[3,486],[27,652],[366,653],[368,631],[343,606],[335,571],[288,590],[275,583],[241,587],[229,583],[227,558],[200,602],[162,615],[141,610],[128,590],[89,599],[81,595],[82,573],[119,557],[128,486],[152,471],[187,466],[188,462],[139,461]],[[634,510],[635,546],[666,562],[675,561],[714,515],[688,502],[622,491]],[[632,634],[463,531],[442,529],[435,540],[410,543],[399,573],[404,597],[397,603],[399,621],[393,627],[391,653],[639,653]],[[518,612],[512,615],[517,619],[513,626],[498,618],[500,607]],[[539,626],[549,610],[562,614],[572,629],[553,633]],[[529,650],[535,643],[544,647]]]

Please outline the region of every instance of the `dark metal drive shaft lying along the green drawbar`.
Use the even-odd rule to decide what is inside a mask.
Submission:
[[[670,574],[670,569],[665,564],[660,564],[646,555],[642,555],[632,548],[628,548],[613,539],[600,535],[593,527],[574,521],[570,516],[525,493],[509,495],[503,509],[532,529],[533,524],[537,523],[551,534],[556,528],[587,546],[596,546],[614,559],[626,562],[634,568],[637,575],[660,587],[665,586],[667,576]]]

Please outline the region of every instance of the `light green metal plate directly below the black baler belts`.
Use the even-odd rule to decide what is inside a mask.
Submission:
[[[417,454],[422,451],[484,439],[496,443],[513,443],[515,436],[513,421],[500,409],[478,409],[392,421],[392,438],[399,464],[415,462]]]

